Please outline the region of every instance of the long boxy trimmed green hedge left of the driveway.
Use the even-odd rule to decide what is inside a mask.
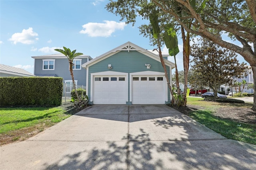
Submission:
[[[62,104],[61,77],[0,77],[0,106]]]

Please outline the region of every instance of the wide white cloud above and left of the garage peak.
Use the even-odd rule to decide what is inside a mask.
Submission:
[[[124,30],[125,22],[104,21],[105,23],[89,22],[84,24],[81,34],[88,34],[90,37],[109,37],[116,30]]]

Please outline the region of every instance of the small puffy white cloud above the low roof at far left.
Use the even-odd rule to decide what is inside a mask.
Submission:
[[[12,38],[9,41],[12,41],[14,44],[20,42],[24,44],[35,43],[39,38],[36,38],[38,34],[33,31],[33,28],[28,28],[28,30],[23,29],[21,33],[14,33]]]

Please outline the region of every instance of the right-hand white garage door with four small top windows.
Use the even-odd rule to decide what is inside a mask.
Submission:
[[[132,104],[165,104],[164,76],[132,76]]]

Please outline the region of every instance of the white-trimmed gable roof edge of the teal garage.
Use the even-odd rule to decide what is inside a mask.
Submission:
[[[140,53],[142,53],[142,54],[144,54],[148,57],[151,57],[152,59],[155,59],[155,60],[161,62],[159,55],[157,55],[155,53],[152,53],[152,52],[150,52],[150,51],[148,51],[148,50],[146,50],[142,47],[139,47],[138,45],[136,45],[134,43],[126,42],[126,43],[124,43],[124,44],[122,44],[122,45],[120,45],[120,46],[118,46],[118,47],[116,47],[116,48],[114,48],[114,49],[112,49],[112,50],[110,50],[110,51],[108,51],[108,52],[90,60],[90,61],[88,61],[87,63],[84,63],[82,65],[82,67],[84,67],[84,68],[90,67],[91,65],[94,65],[95,63],[98,63],[98,62],[102,61],[103,59],[106,59],[106,58],[108,58],[108,57],[110,57],[110,56],[112,56],[112,55],[114,55],[114,54],[116,54],[120,51],[128,51],[128,52],[129,51],[138,51],[138,52],[140,52]],[[164,60],[164,62],[165,62],[166,65],[168,65],[172,69],[175,68],[175,64],[172,63],[171,61]]]

